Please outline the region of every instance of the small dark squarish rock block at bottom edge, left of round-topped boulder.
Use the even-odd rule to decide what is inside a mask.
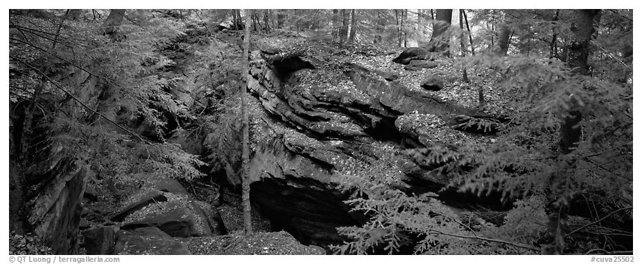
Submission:
[[[83,232],[88,255],[112,255],[116,245],[118,227],[96,227]]]

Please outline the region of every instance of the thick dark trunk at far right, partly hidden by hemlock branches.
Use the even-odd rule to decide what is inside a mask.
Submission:
[[[600,21],[600,10],[573,10],[569,52],[566,64],[575,75],[589,75],[588,58],[591,35],[595,32],[595,26]],[[580,143],[582,128],[582,113],[577,110],[577,102],[571,101],[570,109],[562,116],[562,125],[559,131],[559,158],[571,154],[577,149]],[[566,192],[566,185],[570,180],[569,171],[573,171],[575,158],[565,160],[566,164],[559,168],[558,173],[550,177],[550,191],[548,193],[548,227],[546,232],[546,243],[542,247],[543,254],[564,254],[564,237],[566,236],[566,223],[568,220],[570,200]]]

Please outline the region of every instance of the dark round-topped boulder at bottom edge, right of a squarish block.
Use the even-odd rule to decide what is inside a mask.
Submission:
[[[123,255],[191,255],[178,241],[157,227],[140,227],[116,233],[115,252]]]

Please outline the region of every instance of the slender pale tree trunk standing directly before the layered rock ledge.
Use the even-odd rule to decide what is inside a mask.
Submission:
[[[243,228],[245,235],[252,234],[252,221],[250,214],[252,207],[250,205],[250,117],[248,115],[248,102],[245,102],[248,96],[248,84],[250,83],[250,63],[248,62],[248,55],[250,50],[250,19],[247,19],[249,10],[245,10],[245,38],[243,39],[243,75],[245,76],[245,85],[241,85],[241,115],[243,115],[243,151],[241,153],[243,162],[243,183],[242,183],[242,197],[243,200]]]

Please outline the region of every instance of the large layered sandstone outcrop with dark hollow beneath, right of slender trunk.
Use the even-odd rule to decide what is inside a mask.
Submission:
[[[402,121],[435,115],[444,122],[474,111],[390,81],[390,73],[363,66],[369,55],[336,62],[324,56],[331,51],[300,39],[266,39],[259,48],[248,84],[254,96],[251,199],[273,226],[303,243],[340,243],[336,227],[358,225],[365,216],[342,202],[347,194],[336,189],[336,172],[363,157],[392,162],[383,160],[382,149],[397,157],[394,166],[403,172],[393,187],[437,192],[449,183],[443,164],[422,159],[425,148],[437,144],[428,126]],[[408,149],[412,156],[404,154]]]

